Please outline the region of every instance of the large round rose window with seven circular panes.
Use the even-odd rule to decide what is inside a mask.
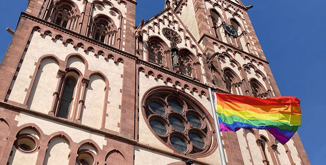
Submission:
[[[216,149],[213,118],[203,106],[174,88],[162,87],[143,98],[143,115],[153,134],[171,149],[191,156],[206,156]],[[170,91],[170,92],[168,92]]]

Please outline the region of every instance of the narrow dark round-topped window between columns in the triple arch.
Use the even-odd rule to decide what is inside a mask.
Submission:
[[[77,82],[73,77],[68,77],[66,79],[61,96],[60,108],[57,114],[58,117],[65,119],[68,118],[76,83]]]

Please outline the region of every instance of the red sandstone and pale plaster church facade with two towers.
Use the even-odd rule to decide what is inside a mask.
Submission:
[[[0,165],[217,165],[208,88],[281,96],[240,0],[29,0],[0,65]],[[222,132],[228,164],[308,165],[296,133]]]

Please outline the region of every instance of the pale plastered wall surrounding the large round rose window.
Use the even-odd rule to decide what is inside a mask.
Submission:
[[[144,73],[140,72],[139,73],[139,100],[138,100],[138,105],[139,105],[139,124],[138,124],[138,129],[139,129],[139,143],[143,143],[143,144],[148,144],[149,146],[152,147],[156,147],[159,149],[163,149],[169,152],[173,152],[169,147],[167,147],[165,144],[163,144],[162,142],[160,142],[155,135],[151,132],[150,128],[148,128],[147,124],[145,123],[145,120],[142,112],[141,112],[141,100],[145,94],[145,92],[147,90],[149,90],[152,87],[155,86],[160,86],[160,85],[166,85],[166,86],[172,86],[171,83],[163,83],[162,80],[157,79],[155,80],[154,77],[152,76],[145,76]],[[176,88],[181,90],[181,87],[177,86]],[[199,97],[197,93],[190,93],[189,90],[185,90],[185,92],[192,96],[193,98],[197,99],[205,108],[206,110],[208,110],[209,114],[212,115],[212,111],[210,111],[211,109],[211,105],[209,100],[206,99],[206,97]],[[214,128],[210,128],[211,130]],[[214,136],[214,135],[212,135]],[[223,132],[222,132],[222,136],[223,136]],[[218,149],[216,149],[216,151],[208,156],[208,157],[204,157],[204,158],[197,158],[200,161],[204,161],[207,163],[211,163],[211,164],[216,164],[216,162],[220,162],[220,155],[219,155],[219,151]],[[168,164],[168,163],[167,163]]]

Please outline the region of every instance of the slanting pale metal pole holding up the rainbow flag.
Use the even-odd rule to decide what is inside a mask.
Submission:
[[[208,93],[209,93],[209,100],[211,101],[211,108],[212,108],[212,112],[213,112],[215,132],[216,132],[216,137],[217,137],[218,149],[220,150],[221,162],[222,162],[222,165],[227,165],[226,159],[225,159],[225,154],[224,154],[222,138],[221,138],[220,126],[219,126],[218,119],[217,119],[217,114],[216,114],[216,110],[215,110],[215,104],[214,104],[214,100],[213,100],[213,93],[212,93],[211,87],[208,88]]]

